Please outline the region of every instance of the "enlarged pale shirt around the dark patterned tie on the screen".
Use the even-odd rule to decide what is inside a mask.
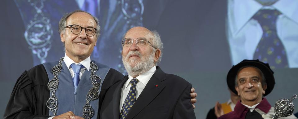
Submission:
[[[227,37],[232,64],[254,58],[263,30],[251,18],[260,9],[277,9],[282,13],[276,21],[277,34],[285,47],[289,68],[298,68],[297,0],[279,0],[271,6],[262,6],[255,0],[228,0]]]

